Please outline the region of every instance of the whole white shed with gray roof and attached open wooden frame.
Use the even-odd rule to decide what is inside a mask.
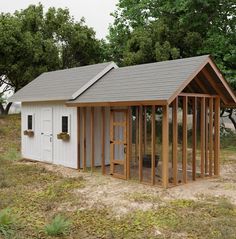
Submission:
[[[48,72],[10,100],[22,157],[165,188],[219,175],[220,106],[236,103],[208,55]]]

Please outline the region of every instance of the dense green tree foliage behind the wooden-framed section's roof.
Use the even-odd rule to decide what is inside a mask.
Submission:
[[[233,0],[120,0],[117,6],[108,40],[120,65],[211,54],[235,88]]]

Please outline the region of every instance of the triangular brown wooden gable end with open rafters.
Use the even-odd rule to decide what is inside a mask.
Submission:
[[[224,105],[236,105],[236,96],[233,90],[210,56],[180,85],[167,100],[168,104],[181,93],[219,95]]]

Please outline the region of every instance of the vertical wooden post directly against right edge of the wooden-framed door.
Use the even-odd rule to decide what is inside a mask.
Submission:
[[[132,159],[132,108],[128,107],[127,114],[127,123],[128,123],[128,154],[127,154],[127,179],[130,178],[130,161]]]

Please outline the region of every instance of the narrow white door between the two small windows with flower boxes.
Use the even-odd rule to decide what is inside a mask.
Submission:
[[[52,162],[52,108],[43,108],[41,113],[41,157]]]

